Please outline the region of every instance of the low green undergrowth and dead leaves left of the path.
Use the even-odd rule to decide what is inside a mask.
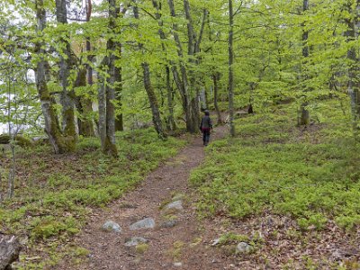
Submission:
[[[47,146],[18,149],[15,196],[0,206],[1,231],[21,236],[28,247],[18,269],[49,268],[65,256],[78,260],[86,252],[69,246],[68,239],[83,227],[91,208],[121,197],[185,144],[157,139],[152,129],[117,137],[116,159],[104,156],[94,138],[80,139],[71,155],[55,156]],[[2,162],[6,175],[10,160],[2,157]]]

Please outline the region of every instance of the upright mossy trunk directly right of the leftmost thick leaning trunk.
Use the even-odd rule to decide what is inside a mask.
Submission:
[[[67,4],[65,0],[56,0],[56,14],[58,23],[67,24]],[[60,70],[59,78],[62,86],[62,94],[60,102],[62,105],[62,120],[63,120],[63,132],[68,138],[67,143],[72,144],[72,148],[76,145],[76,128],[75,128],[75,103],[74,92],[69,90],[69,76],[70,68],[73,66],[73,56],[71,54],[70,43],[66,39],[61,39],[60,42],[65,44],[65,49],[62,52],[66,55],[63,56],[60,53]]]

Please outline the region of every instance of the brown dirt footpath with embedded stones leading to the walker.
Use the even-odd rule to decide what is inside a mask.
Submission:
[[[211,140],[223,138],[227,128],[220,126],[214,131]],[[148,175],[136,190],[112,202],[105,211],[94,211],[76,238],[77,245],[90,251],[89,259],[84,265],[61,269],[227,269],[229,262],[210,245],[214,236],[204,229],[208,226],[197,220],[193,190],[188,186],[191,170],[201,165],[204,156],[198,136]],[[166,215],[161,206],[176,200],[182,201],[184,209],[172,209]],[[132,223],[144,218],[154,219],[155,228],[130,229]],[[101,229],[107,220],[118,223],[122,231]],[[175,222],[164,223],[166,220]],[[148,243],[126,247],[125,242],[132,237],[146,238]]]

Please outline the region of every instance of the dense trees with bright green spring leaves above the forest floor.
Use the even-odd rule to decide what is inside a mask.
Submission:
[[[359,1],[1,1],[0,91],[10,133],[44,132],[55,153],[153,125],[166,139],[200,112],[298,104],[309,125],[338,99],[358,137]],[[318,119],[319,120],[319,119]],[[16,134],[13,134],[16,136]]]

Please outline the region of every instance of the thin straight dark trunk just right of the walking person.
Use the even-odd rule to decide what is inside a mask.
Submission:
[[[229,0],[229,125],[230,135],[235,136],[234,126],[234,75],[233,75],[233,63],[234,63],[234,52],[233,52],[233,33],[234,33],[234,11],[232,0]]]

